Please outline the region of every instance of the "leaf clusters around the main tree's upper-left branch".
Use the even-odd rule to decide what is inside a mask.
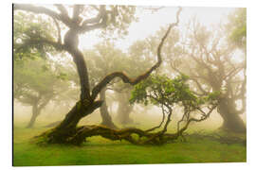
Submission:
[[[46,58],[46,52],[53,52],[53,48],[41,41],[52,41],[56,36],[52,21],[41,15],[34,15],[23,11],[15,11],[13,17],[13,57],[14,59]],[[30,41],[33,42],[30,42]]]

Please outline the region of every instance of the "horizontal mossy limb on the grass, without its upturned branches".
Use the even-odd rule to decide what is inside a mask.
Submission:
[[[53,128],[41,134],[40,136],[36,136],[36,143],[58,143],[51,140],[53,136],[56,138],[53,131],[56,130]],[[93,125],[77,127],[77,129],[71,132],[71,134],[69,133],[69,137],[67,137],[64,141],[62,140],[62,143],[81,145],[84,141],[86,141],[86,138],[88,137],[101,136],[112,141],[125,140],[131,144],[166,144],[169,141],[174,141],[181,134],[182,133],[180,132],[169,134],[163,133],[162,131],[149,133],[146,130],[142,130],[136,127],[112,129],[109,127]],[[62,135],[60,134],[60,136]]]

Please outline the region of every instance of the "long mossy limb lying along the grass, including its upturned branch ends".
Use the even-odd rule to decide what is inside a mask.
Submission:
[[[192,122],[201,122],[206,120],[210,116],[212,110],[214,110],[216,107],[217,105],[213,106],[207,113],[202,110],[204,114],[200,119],[188,119],[185,126],[182,128],[178,128],[176,133],[167,133],[167,127],[171,122],[171,115],[173,111],[171,108],[169,108],[169,111],[164,109],[162,110],[163,114],[167,113],[168,116],[163,129],[157,132],[151,132],[153,128],[151,128],[150,130],[142,130],[136,127],[113,129],[109,127],[95,125],[68,128],[58,126],[46,131],[40,136],[37,136],[35,139],[36,143],[38,144],[81,145],[84,141],[86,141],[86,138],[88,137],[101,136],[112,141],[125,140],[131,144],[166,144],[168,142],[176,140],[180,136],[182,137],[182,134]]]

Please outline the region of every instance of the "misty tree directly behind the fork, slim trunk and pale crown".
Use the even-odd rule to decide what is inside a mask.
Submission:
[[[89,76],[91,77],[91,86],[95,86],[101,81],[104,76],[113,72],[120,72],[127,70],[126,61],[128,60],[126,54],[115,47],[113,42],[104,41],[95,45],[94,49],[83,52],[87,56],[85,61],[88,63]],[[117,80],[116,80],[117,81]],[[109,83],[105,88],[101,89],[100,99],[104,101],[101,105],[101,125],[111,128],[117,128],[109,113],[106,92],[113,90],[115,81]]]

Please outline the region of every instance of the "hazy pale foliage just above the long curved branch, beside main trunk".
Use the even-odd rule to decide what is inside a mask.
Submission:
[[[132,77],[138,76],[150,68],[154,61],[153,59],[137,59],[133,52],[125,54],[115,46],[115,43],[109,41],[100,42],[92,50],[84,50],[83,54],[88,66],[91,86],[113,72],[124,72]],[[123,85],[120,82],[118,84]]]

